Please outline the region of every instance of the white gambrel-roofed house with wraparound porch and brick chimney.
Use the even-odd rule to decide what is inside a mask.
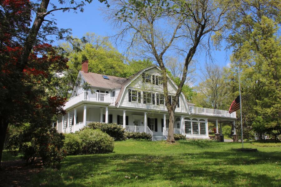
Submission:
[[[84,61],[77,81],[87,82],[91,90],[74,87],[64,108],[67,114],[57,119],[58,132],[76,132],[90,122],[114,122],[126,131],[150,133],[153,140],[166,139],[169,115],[159,67],[147,67],[125,79],[88,72],[88,61]],[[177,90],[171,79],[168,90],[169,95]],[[216,122],[218,127],[219,122],[235,123],[235,119],[235,112],[194,107],[181,93],[174,132],[188,138],[209,139],[208,122]]]

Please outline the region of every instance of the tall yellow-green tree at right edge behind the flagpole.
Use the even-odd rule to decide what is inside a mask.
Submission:
[[[233,49],[231,76],[238,91],[237,67],[241,69],[243,128],[277,137],[280,125],[280,2],[234,1],[227,15],[227,48]],[[224,37],[228,36],[228,37]]]

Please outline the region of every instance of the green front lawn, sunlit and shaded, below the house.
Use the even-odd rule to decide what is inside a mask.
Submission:
[[[259,151],[214,141],[117,141],[114,153],[68,156],[27,186],[281,186],[280,144],[244,145]]]

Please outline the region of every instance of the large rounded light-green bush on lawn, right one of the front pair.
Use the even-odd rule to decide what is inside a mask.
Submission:
[[[81,139],[81,153],[110,153],[114,148],[114,139],[99,129],[86,128],[78,133]]]

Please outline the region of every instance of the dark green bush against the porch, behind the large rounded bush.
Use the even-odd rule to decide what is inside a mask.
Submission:
[[[123,127],[117,125],[117,123],[92,122],[89,123],[88,126],[83,129],[86,128],[100,129],[102,132],[105,132],[109,136],[114,138],[114,140],[125,140],[125,136],[124,136],[125,130]]]

